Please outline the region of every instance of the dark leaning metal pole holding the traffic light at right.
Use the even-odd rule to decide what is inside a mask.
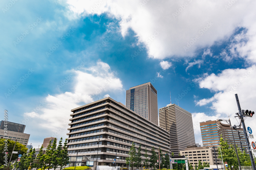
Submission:
[[[241,107],[240,107],[238,95],[235,94],[235,97],[236,97],[237,107],[238,107],[238,111],[239,111],[239,119],[241,120],[241,123],[242,123],[242,126],[243,126],[244,138],[246,139],[247,149],[249,151],[249,155],[250,155],[250,158],[251,158],[252,169],[256,170],[256,166],[255,166],[255,163],[254,163],[252,152],[250,151],[251,150],[251,146],[250,146],[250,142],[249,142],[249,139],[248,139],[248,136],[247,136],[246,126],[244,124],[243,115],[242,115],[242,112],[241,112]],[[239,168],[240,168],[239,170],[241,170],[241,167],[239,167]]]

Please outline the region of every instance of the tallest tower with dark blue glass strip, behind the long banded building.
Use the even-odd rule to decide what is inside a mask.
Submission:
[[[157,91],[148,82],[126,90],[126,107],[158,125]]]

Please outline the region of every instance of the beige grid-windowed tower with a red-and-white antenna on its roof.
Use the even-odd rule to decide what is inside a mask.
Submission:
[[[196,145],[192,115],[176,104],[159,109],[159,126],[170,132],[170,150],[175,156],[187,146]]]

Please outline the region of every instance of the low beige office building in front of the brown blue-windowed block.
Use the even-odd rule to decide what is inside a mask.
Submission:
[[[186,148],[184,151],[180,151],[180,155],[185,155],[188,158],[189,163],[195,168],[196,164],[198,166],[198,161],[203,162],[208,162],[210,164],[211,168],[216,169],[216,159],[217,159],[217,164],[218,168],[223,168],[222,165],[222,160],[218,158],[218,152],[217,148],[215,148],[215,153],[214,154],[214,148],[212,147],[189,147]]]

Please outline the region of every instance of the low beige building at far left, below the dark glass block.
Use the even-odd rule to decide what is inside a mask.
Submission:
[[[19,133],[19,132],[13,132],[13,131],[8,131],[7,135],[4,133],[5,130],[0,129],[0,137],[3,138],[8,138],[8,139],[12,139],[12,140],[16,140],[17,142],[25,145],[27,147],[28,145],[28,139],[30,137],[29,134],[26,133]]]

